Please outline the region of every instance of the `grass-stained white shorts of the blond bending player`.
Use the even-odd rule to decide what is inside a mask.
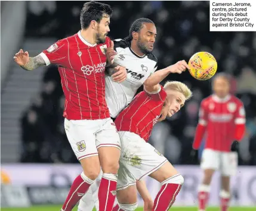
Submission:
[[[152,145],[135,133],[118,132],[121,139],[117,190],[136,184],[158,170],[168,160]]]

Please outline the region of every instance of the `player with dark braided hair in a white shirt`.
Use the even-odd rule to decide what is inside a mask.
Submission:
[[[107,48],[106,53],[114,59],[114,65],[126,67],[128,73],[127,79],[122,83],[116,83],[113,77],[106,76],[106,102],[113,119],[131,103],[137,90],[147,81],[149,75],[156,71],[158,59],[152,53],[156,35],[156,26],[153,21],[148,18],[139,18],[132,23],[128,37],[114,40],[113,48]],[[109,73],[113,73],[111,67]],[[165,119],[166,115],[163,113],[159,121]],[[92,210],[94,204],[98,210],[97,191],[100,179],[99,175],[88,193],[79,201],[79,211]],[[137,188],[144,200],[144,210],[151,211],[153,201],[145,182],[137,181]]]

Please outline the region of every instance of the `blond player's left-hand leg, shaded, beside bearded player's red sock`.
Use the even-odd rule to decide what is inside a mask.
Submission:
[[[136,179],[122,163],[118,171],[116,197],[118,204],[113,207],[112,211],[133,211],[138,206]]]

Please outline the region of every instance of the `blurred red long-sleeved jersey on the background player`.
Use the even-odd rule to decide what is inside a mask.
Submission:
[[[211,95],[203,99],[199,111],[199,127],[206,130],[205,148],[229,152],[231,144],[236,138],[242,138],[243,132],[239,131],[245,125],[245,109],[243,103],[235,96],[228,95],[220,99]],[[204,130],[197,130],[195,148],[198,148]],[[240,133],[236,136],[237,133]],[[242,133],[242,134],[241,134]],[[198,139],[198,140],[197,140]],[[196,143],[198,142],[198,143]]]

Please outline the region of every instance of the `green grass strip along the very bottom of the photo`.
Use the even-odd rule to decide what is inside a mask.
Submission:
[[[60,211],[60,206],[32,206],[24,208],[1,208],[1,211]],[[77,211],[77,208],[73,209]],[[171,211],[198,211],[198,207],[171,207]],[[95,210],[94,210],[95,211]],[[143,211],[140,207],[136,211]],[[220,211],[220,207],[208,207],[206,211]],[[229,211],[256,211],[255,207],[230,207]]]

